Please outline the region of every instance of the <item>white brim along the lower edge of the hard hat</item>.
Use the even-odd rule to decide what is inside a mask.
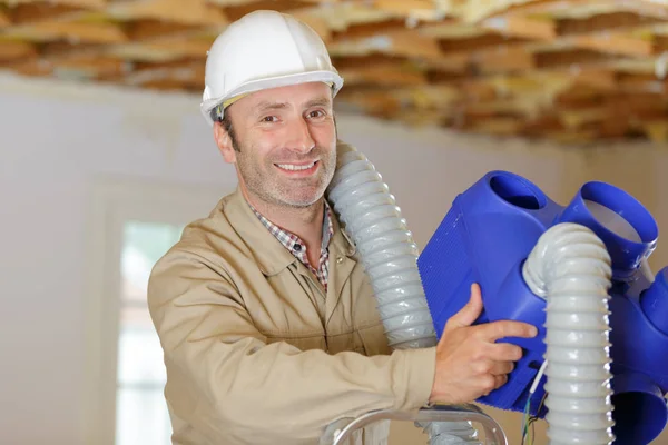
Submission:
[[[343,78],[334,71],[322,70],[322,71],[310,71],[298,72],[294,75],[275,76],[266,79],[258,79],[245,82],[235,90],[230,91],[225,97],[212,98],[203,100],[200,103],[200,110],[205,119],[213,127],[214,120],[212,119],[212,110],[220,103],[242,95],[248,95],[252,92],[266,90],[271,88],[288,87],[299,83],[308,82],[325,82],[332,85],[332,95],[336,96],[338,90],[343,87]]]

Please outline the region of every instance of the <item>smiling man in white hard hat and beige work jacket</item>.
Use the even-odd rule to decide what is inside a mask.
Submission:
[[[315,444],[342,417],[471,402],[521,357],[494,342],[536,335],[470,326],[482,309],[473,287],[438,347],[389,348],[324,196],[347,147],[333,113],[342,83],[317,34],[277,12],[242,18],[208,53],[203,112],[238,188],[185,229],[149,281],[175,444]]]

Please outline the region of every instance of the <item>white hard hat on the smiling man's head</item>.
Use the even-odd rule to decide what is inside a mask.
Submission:
[[[212,111],[223,110],[249,92],[322,81],[336,95],[343,79],[332,66],[325,43],[294,17],[258,10],[230,23],[208,51],[202,113],[213,125]]]

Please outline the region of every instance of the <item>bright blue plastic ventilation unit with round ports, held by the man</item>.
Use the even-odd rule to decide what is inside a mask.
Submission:
[[[478,402],[522,412],[546,353],[546,300],[522,277],[522,265],[539,237],[559,222],[589,227],[611,258],[609,290],[613,434],[617,445],[649,444],[665,428],[668,409],[668,267],[656,276],[647,258],[658,227],[626,191],[586,182],[560,206],[528,179],[491,171],[460,194],[419,257],[418,266],[439,338],[448,319],[480,284],[483,314],[475,323],[521,320],[539,328],[531,339],[508,338],[524,350],[508,383]],[[546,376],[530,400],[544,417]]]

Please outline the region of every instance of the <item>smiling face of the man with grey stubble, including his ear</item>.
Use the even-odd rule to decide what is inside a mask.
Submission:
[[[216,141],[250,199],[307,207],[323,196],[336,167],[332,106],[330,88],[312,82],[254,92],[227,108],[238,150],[219,123]]]

